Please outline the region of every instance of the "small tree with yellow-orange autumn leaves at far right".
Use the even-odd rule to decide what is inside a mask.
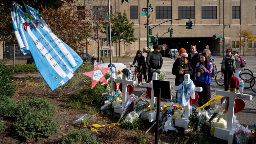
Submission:
[[[238,45],[243,46],[243,56],[244,56],[245,55],[245,45],[246,45],[245,42],[255,41],[256,39],[251,34],[251,32],[248,30],[241,30],[241,31],[239,31],[239,33],[240,33],[240,37],[241,37],[241,39],[243,39],[243,41],[240,41]],[[240,53],[241,53],[241,49],[240,49]]]

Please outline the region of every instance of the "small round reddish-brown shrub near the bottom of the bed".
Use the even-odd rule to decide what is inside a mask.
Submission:
[[[107,125],[105,126],[104,128],[104,131],[103,131],[103,137],[106,139],[106,140],[118,140],[121,135],[121,129],[116,126],[116,125]]]

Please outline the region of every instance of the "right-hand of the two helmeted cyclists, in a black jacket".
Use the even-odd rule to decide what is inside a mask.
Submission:
[[[148,65],[148,81],[147,83],[150,83],[153,77],[153,69],[161,69],[163,65],[163,58],[162,55],[160,54],[160,46],[159,45],[154,45],[153,52],[148,53],[146,63]]]

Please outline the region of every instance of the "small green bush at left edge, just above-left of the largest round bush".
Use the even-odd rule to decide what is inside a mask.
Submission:
[[[10,97],[0,95],[0,117],[4,119],[13,119],[15,115],[14,109],[18,104]]]

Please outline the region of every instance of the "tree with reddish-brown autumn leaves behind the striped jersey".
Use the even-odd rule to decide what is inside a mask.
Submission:
[[[82,21],[83,10],[73,10],[71,7],[44,10],[41,14],[53,33],[69,45],[76,52],[80,47],[88,47],[88,37],[91,36],[91,25],[88,21]]]

